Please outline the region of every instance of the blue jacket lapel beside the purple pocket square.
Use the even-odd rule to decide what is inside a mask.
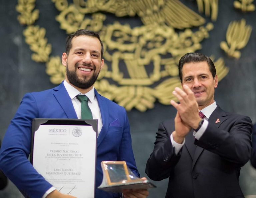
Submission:
[[[98,147],[108,132],[109,109],[108,109],[108,106],[107,106],[104,98],[101,95],[99,95],[96,90],[95,90],[95,96],[98,100],[98,104],[100,107],[101,119],[102,119],[102,128],[101,128],[100,134],[97,139],[97,147]]]

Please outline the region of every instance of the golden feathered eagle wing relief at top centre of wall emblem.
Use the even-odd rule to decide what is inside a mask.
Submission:
[[[104,11],[118,17],[138,15],[144,25],[165,24],[177,29],[200,26],[205,19],[178,0],[74,0],[84,14]]]

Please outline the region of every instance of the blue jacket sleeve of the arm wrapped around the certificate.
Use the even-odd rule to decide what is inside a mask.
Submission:
[[[52,185],[28,161],[31,122],[38,117],[37,103],[26,94],[6,131],[0,152],[0,169],[25,197],[42,197]]]

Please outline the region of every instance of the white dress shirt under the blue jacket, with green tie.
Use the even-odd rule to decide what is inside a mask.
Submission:
[[[81,102],[76,98],[77,95],[83,95],[81,94],[76,88],[74,88],[72,85],[70,85],[66,80],[64,80],[64,87],[66,88],[68,95],[72,101],[72,104],[74,106],[74,109],[76,111],[76,115],[78,119],[81,119]],[[98,136],[99,133],[101,131],[101,128],[103,126],[102,124],[102,119],[101,119],[101,114],[100,114],[100,107],[98,104],[98,100],[95,97],[95,93],[94,93],[94,87],[92,88],[92,90],[90,90],[89,92],[87,92],[86,95],[89,100],[88,100],[88,106],[90,107],[91,111],[92,111],[92,117],[93,119],[97,119],[98,120]],[[52,191],[56,190],[55,187],[51,187],[50,189],[48,189],[42,198],[45,198],[48,194],[50,194]]]

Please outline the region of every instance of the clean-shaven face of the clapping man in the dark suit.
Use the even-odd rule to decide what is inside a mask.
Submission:
[[[182,68],[182,85],[193,92],[199,110],[214,102],[214,89],[218,86],[217,75],[213,78],[206,61],[185,63]]]

